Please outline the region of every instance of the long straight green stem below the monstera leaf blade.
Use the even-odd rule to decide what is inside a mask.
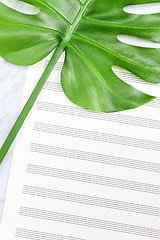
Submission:
[[[39,79],[37,85],[35,86],[33,92],[31,93],[28,101],[26,102],[24,108],[22,109],[19,117],[17,118],[14,126],[12,127],[9,135],[7,136],[2,148],[0,149],[0,164],[2,163],[6,153],[8,152],[10,146],[12,145],[15,137],[17,136],[21,126],[23,125],[26,117],[28,116],[30,110],[32,109],[37,97],[39,96],[45,82],[47,81],[49,75],[51,74],[56,62],[58,61],[59,57],[61,56],[66,43],[62,41],[60,45],[55,50],[51,60],[49,61],[46,69],[44,70],[41,78]]]

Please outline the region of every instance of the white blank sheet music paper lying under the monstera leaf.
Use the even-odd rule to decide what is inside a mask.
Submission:
[[[47,62],[29,68],[24,102]],[[62,62],[18,134],[1,239],[160,239],[160,100],[86,111],[61,89]],[[159,86],[116,74],[158,96]]]

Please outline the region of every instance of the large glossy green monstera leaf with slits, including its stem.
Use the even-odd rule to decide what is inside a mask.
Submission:
[[[160,83],[160,50],[126,45],[117,39],[125,34],[159,42],[160,14],[123,11],[127,5],[159,0],[21,1],[35,6],[39,13],[23,14],[0,3],[0,56],[13,64],[32,65],[56,50],[12,135],[63,51],[61,83],[73,103],[97,112],[114,112],[153,99],[120,80],[112,66],[125,68],[146,82]]]

